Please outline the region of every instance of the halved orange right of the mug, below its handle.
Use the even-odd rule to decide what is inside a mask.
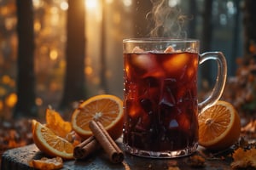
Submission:
[[[223,150],[240,136],[240,117],[230,103],[219,100],[198,118],[199,144],[210,150]]]

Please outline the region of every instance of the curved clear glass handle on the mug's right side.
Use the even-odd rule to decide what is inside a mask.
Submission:
[[[218,101],[224,91],[227,77],[227,63],[224,54],[221,52],[207,52],[200,54],[199,65],[209,59],[217,61],[218,73],[214,88],[212,89],[212,94],[210,94],[207,99],[198,104],[199,113],[205,111],[207,108],[214,105]]]

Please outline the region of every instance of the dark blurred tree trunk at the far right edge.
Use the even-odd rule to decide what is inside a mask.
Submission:
[[[252,54],[250,46],[256,47],[256,1],[245,0],[244,1],[244,54],[245,56]],[[255,53],[255,51],[254,51]]]

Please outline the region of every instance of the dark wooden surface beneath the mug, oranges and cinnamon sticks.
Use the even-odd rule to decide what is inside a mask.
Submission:
[[[122,148],[121,139],[117,140],[117,144]],[[225,153],[228,155],[229,153]],[[230,162],[232,161],[230,156],[225,156],[225,159],[221,159],[221,156],[216,157],[216,159],[210,158],[209,153],[206,150],[199,147],[195,155],[202,156],[206,158],[205,166],[201,169],[209,170],[222,170],[230,169]],[[30,170],[32,167],[28,166],[28,161],[32,159],[40,159],[44,156],[40,150],[38,150],[35,144],[26,145],[24,147],[15,148],[12,150],[7,150],[3,153],[2,156],[2,170]],[[193,156],[193,155],[192,155]],[[210,158],[210,159],[209,159]],[[190,167],[189,162],[190,156],[185,156],[181,158],[173,159],[151,159],[144,158],[139,156],[131,156],[128,153],[125,153],[125,160],[119,164],[113,164],[108,161],[108,157],[103,150],[98,150],[96,153],[90,157],[80,160],[80,161],[64,161],[64,167],[61,169],[138,169],[138,170],[150,170],[150,169],[198,169],[195,167]]]

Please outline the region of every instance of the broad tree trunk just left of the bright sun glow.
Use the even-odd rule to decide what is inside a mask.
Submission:
[[[84,0],[69,0],[67,10],[66,77],[61,108],[84,99]]]

